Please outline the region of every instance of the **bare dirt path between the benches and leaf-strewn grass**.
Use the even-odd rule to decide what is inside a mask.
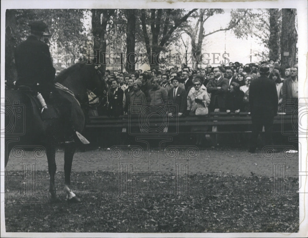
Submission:
[[[174,170],[174,160],[168,159],[161,151],[161,171]],[[179,157],[185,157],[185,151],[180,151]],[[27,158],[32,156],[31,152],[26,152]],[[293,158],[287,159],[287,171],[298,171],[298,153]],[[129,150],[124,150],[122,158],[130,158]],[[159,170],[159,153],[158,150],[150,150],[149,153],[150,170]],[[276,154],[275,158],[283,158],[282,152]],[[63,171],[64,151],[56,152],[57,170]],[[46,156],[36,163],[37,170],[48,171]],[[147,171],[148,161],[147,154],[144,153],[139,159],[134,159],[134,171]],[[7,165],[8,171],[21,170],[20,158],[14,158],[10,155]],[[115,171],[119,170],[117,159],[111,158],[109,150],[90,150],[86,152],[76,152],[73,160],[72,171]],[[246,150],[227,150],[227,149],[204,149],[200,150],[199,156],[190,161],[190,172],[197,174],[208,173],[229,173],[233,175],[250,176],[251,173],[256,175],[271,176],[272,162],[271,159],[264,158],[259,151],[250,154]]]

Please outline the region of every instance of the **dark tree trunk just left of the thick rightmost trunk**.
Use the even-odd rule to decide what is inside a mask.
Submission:
[[[269,39],[269,49],[270,49],[270,59],[279,59],[279,26],[278,26],[278,9],[271,8],[270,12],[270,39]]]

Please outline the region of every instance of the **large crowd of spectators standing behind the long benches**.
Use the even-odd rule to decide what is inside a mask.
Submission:
[[[277,112],[281,112],[286,100],[298,100],[298,68],[295,65],[282,69],[279,61],[270,59],[260,64],[230,62],[194,70],[187,65],[145,72],[139,69],[132,73],[106,70],[105,80],[110,88],[107,114],[114,117],[128,114],[129,105],[136,100],[143,104],[146,98],[151,98],[151,104],[171,100],[178,105],[179,117],[205,115],[215,109],[227,113],[250,112],[249,86],[260,76],[261,64],[270,67],[268,77],[276,84]],[[103,113],[99,108],[91,112],[92,115]]]

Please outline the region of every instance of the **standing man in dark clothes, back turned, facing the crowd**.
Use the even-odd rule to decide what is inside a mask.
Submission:
[[[260,77],[252,80],[249,87],[249,106],[252,120],[252,134],[249,152],[254,153],[257,144],[257,137],[265,129],[265,144],[272,145],[272,131],[274,116],[277,115],[278,95],[274,80],[268,78],[270,67],[262,64]]]

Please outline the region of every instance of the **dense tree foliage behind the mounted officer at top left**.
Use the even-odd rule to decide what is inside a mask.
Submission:
[[[48,16],[48,17],[46,17]],[[48,25],[47,33],[51,35],[49,43],[51,55],[55,60],[62,61],[66,68],[84,53],[88,39],[81,19],[82,9],[9,9],[6,10],[6,65],[12,64],[14,48],[26,39],[30,33],[28,24],[31,21],[44,21]],[[52,51],[52,50],[55,51]],[[61,69],[61,65],[55,65]],[[7,68],[8,67],[8,68]],[[6,77],[13,76],[12,66],[7,66]]]

